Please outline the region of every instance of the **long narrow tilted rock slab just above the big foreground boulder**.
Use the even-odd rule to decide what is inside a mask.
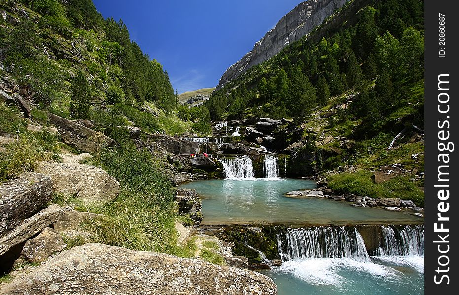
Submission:
[[[0,238],[0,256],[5,254],[11,247],[25,242],[50,224],[56,222],[62,211],[62,207],[51,205],[24,220],[23,223]]]

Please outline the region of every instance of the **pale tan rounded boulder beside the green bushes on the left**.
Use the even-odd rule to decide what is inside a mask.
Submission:
[[[112,200],[120,192],[118,180],[94,166],[40,162],[37,171],[52,177],[55,191],[76,195],[85,203]]]

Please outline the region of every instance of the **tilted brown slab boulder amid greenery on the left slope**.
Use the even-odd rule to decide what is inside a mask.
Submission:
[[[105,147],[113,147],[116,142],[88,127],[85,127],[77,122],[59,117],[52,113],[48,113],[50,122],[57,126],[57,130],[61,134],[63,142],[77,148],[79,150],[96,153],[98,150]]]

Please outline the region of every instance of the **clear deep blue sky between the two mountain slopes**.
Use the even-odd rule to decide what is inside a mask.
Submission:
[[[168,71],[179,93],[214,87],[301,0],[93,0]]]

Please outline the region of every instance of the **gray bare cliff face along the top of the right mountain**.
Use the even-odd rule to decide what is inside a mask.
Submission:
[[[216,90],[226,83],[245,73],[251,67],[278,54],[285,46],[308,34],[325,18],[342,7],[347,0],[309,0],[300,3],[286,14],[241,60],[230,66]]]

